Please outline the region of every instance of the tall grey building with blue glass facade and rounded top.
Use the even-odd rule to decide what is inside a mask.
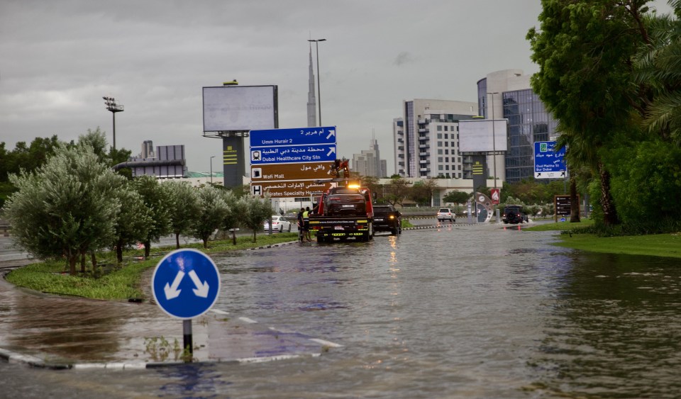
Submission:
[[[534,142],[555,140],[555,120],[530,86],[530,76],[520,69],[492,72],[477,82],[478,112],[485,118],[506,118],[508,147],[497,155],[496,176],[502,181],[529,179],[534,172]],[[494,115],[492,115],[494,113]],[[492,156],[487,165],[492,165]],[[493,174],[490,173],[490,176]]]

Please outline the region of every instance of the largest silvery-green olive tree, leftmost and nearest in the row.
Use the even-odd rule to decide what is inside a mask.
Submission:
[[[5,204],[13,240],[40,259],[67,260],[70,274],[85,254],[114,242],[121,177],[101,164],[91,146],[59,145],[33,173],[10,176],[18,191]]]

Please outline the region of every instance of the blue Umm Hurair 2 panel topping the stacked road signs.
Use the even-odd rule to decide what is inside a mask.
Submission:
[[[306,144],[336,144],[336,126],[250,131],[250,147]]]

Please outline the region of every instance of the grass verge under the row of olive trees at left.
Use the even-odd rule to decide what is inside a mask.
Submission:
[[[236,245],[232,240],[211,241],[209,248],[204,249],[200,243],[182,245],[182,248],[199,249],[205,254],[218,254],[240,249],[267,247],[281,242],[296,241],[297,232],[274,235],[258,235],[258,242],[253,242],[253,236],[237,237]],[[16,286],[30,288],[44,293],[54,293],[67,296],[79,296],[103,300],[144,299],[140,289],[142,274],[157,265],[160,259],[175,246],[154,248],[149,259],[143,259],[143,251],[126,252],[123,264],[115,266],[114,254],[103,252],[98,254],[98,273],[92,270],[82,276],[71,276],[67,273],[65,262],[47,261],[30,264],[11,271],[6,280]],[[88,268],[92,266],[88,264]]]

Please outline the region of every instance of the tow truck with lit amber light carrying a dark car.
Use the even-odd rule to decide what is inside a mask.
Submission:
[[[313,213],[309,216],[310,233],[317,242],[333,242],[336,238],[345,241],[369,241],[374,237],[373,206],[369,189],[361,187],[350,179],[348,161],[336,159],[329,174],[332,179],[319,183],[335,183],[325,193],[313,193]]]

